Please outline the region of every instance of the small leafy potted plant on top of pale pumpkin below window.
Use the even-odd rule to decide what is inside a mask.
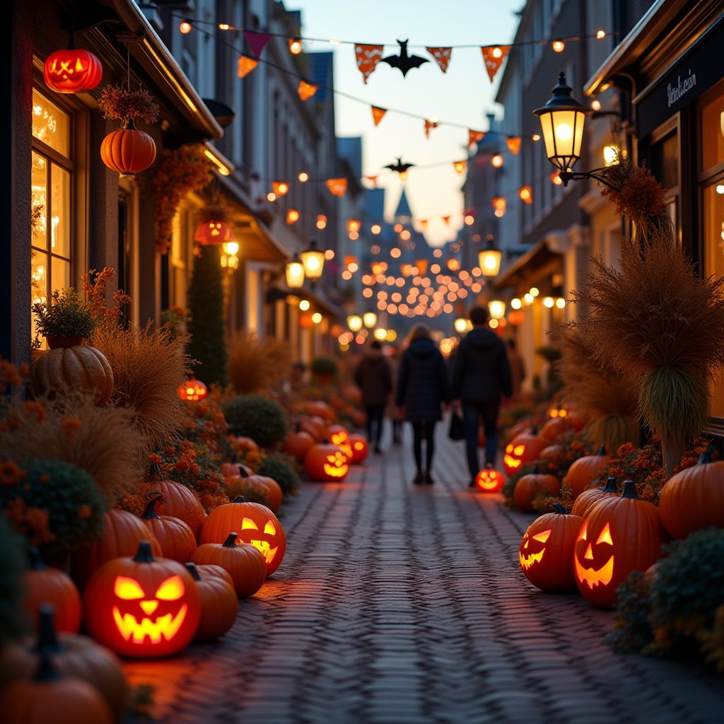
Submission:
[[[41,337],[46,338],[51,350],[82,345],[96,328],[93,311],[73,287],[56,289],[49,302],[33,304],[33,315],[37,330],[33,341],[35,349],[41,346]]]

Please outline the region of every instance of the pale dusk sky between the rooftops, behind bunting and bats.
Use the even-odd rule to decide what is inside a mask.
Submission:
[[[454,239],[462,225],[460,187],[465,177],[455,172],[452,161],[466,158],[468,138],[464,128],[446,127],[445,121],[487,130],[486,114],[500,117],[500,106],[493,102],[500,75],[490,83],[479,46],[513,40],[518,27],[515,11],[523,7],[523,0],[297,0],[285,5],[302,11],[303,36],[384,43],[384,56],[397,54],[397,39],[409,38],[410,46],[421,46],[409,52],[429,63],[410,70],[405,78],[380,63],[367,85],[357,70],[354,46],[331,46],[335,89],[366,101],[336,96],[337,135],[363,137],[363,173],[382,172],[378,184],[387,189],[387,214],[397,206],[401,182],[384,169],[386,164],[395,163],[398,156],[418,166],[450,161],[432,169],[411,169],[405,189],[416,219],[429,219],[425,234],[430,245]],[[476,47],[453,49],[445,74],[424,49],[458,44]],[[308,51],[329,48],[329,43],[305,43]],[[441,124],[429,139],[421,120],[392,112],[374,127],[370,105],[435,116]],[[453,216],[450,227],[441,219],[447,215]]]

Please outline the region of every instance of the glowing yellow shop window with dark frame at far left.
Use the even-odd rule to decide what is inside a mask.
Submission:
[[[45,302],[71,285],[71,116],[33,89],[30,176],[32,301]],[[35,324],[33,322],[33,337]]]

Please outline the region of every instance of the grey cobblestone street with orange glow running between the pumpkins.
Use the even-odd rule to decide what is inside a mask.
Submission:
[[[385,445],[283,508],[287,554],[216,644],[129,662],[163,722],[704,723],[724,686],[697,663],[614,654],[612,619],[518,568],[533,519],[468,492],[438,426],[435,484]]]

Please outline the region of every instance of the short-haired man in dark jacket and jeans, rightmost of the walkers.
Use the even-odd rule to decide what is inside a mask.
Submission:
[[[453,400],[460,400],[463,408],[463,427],[470,487],[474,487],[478,474],[478,428],[483,418],[485,429],[485,466],[495,464],[497,452],[497,418],[500,398],[510,397],[510,363],[505,342],[488,329],[488,311],[473,307],[470,311],[473,329],[460,342],[452,364],[450,382]]]

